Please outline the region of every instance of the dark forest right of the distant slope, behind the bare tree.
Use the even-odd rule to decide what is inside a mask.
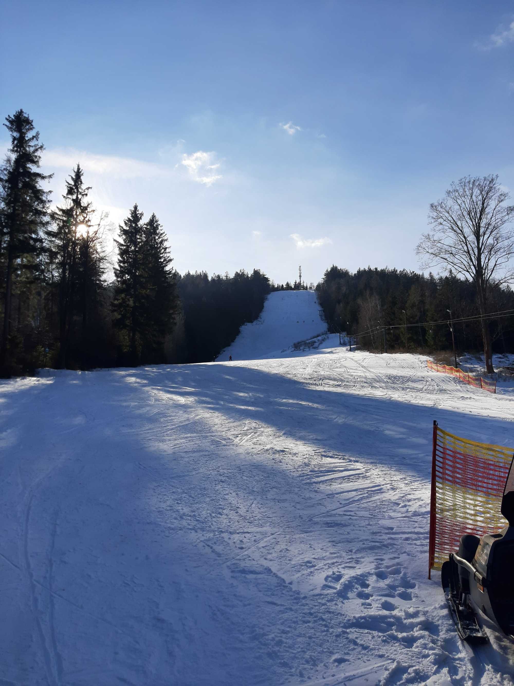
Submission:
[[[448,310],[453,319],[473,317],[480,311],[474,284],[458,279],[452,272],[447,276],[424,276],[407,270],[368,267],[351,273],[332,265],[316,291],[331,331],[355,334],[374,329],[358,340],[371,350],[381,349],[383,327],[386,327],[388,350],[406,347],[410,351],[451,350]],[[489,312],[514,309],[514,293],[510,287],[493,287],[487,309]],[[423,325],[441,321],[443,324]],[[495,351],[512,350],[512,316],[489,320],[489,330]],[[458,350],[482,350],[480,322],[454,322],[454,335]]]

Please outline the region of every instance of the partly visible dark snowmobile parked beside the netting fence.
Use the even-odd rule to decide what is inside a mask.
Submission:
[[[514,458],[501,506],[509,522],[498,534],[481,538],[465,534],[457,553],[443,563],[441,583],[458,635],[469,643],[485,643],[478,611],[514,639]]]

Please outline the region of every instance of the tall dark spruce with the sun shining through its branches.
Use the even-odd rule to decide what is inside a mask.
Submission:
[[[87,200],[91,186],[84,187],[80,164],[66,180],[63,206],[52,213],[53,228],[46,231],[49,250],[57,265],[59,356],[58,366],[67,365],[67,349],[75,305],[81,294],[78,287],[79,247],[89,233],[93,204]]]

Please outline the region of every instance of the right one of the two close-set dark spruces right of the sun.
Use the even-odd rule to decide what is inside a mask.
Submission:
[[[143,247],[148,289],[143,355],[145,362],[165,362],[166,336],[174,328],[179,303],[167,236],[154,213],[144,226]]]

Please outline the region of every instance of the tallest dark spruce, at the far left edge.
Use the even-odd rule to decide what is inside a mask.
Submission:
[[[0,169],[0,249],[3,266],[3,327],[0,342],[0,372],[10,373],[8,359],[11,333],[12,285],[15,272],[23,279],[33,268],[34,257],[42,248],[40,232],[47,224],[49,193],[41,183],[51,178],[38,171],[44,146],[32,119],[18,110],[6,117],[3,126],[11,137],[8,156]],[[24,257],[27,256],[27,259]],[[22,299],[19,298],[19,307]]]

